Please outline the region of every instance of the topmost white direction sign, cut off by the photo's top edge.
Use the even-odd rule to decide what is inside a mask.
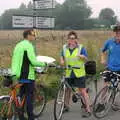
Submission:
[[[54,0],[34,0],[35,9],[55,8]]]

